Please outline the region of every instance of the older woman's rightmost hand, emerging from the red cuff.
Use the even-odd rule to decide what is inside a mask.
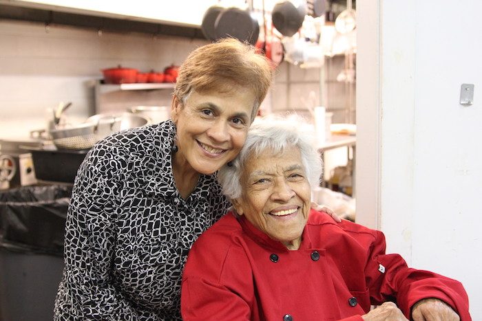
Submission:
[[[414,321],[459,321],[459,315],[442,300],[429,298],[415,303],[412,307]]]

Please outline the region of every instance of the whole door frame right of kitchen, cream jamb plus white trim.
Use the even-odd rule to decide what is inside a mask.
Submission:
[[[357,3],[357,223],[412,255],[416,0]]]

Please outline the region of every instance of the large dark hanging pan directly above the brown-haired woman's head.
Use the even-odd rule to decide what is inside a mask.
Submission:
[[[255,45],[260,35],[260,25],[248,10],[225,8],[214,24],[216,38],[237,38]]]

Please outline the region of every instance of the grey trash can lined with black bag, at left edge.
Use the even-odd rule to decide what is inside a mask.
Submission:
[[[0,320],[52,320],[72,185],[0,192]]]

